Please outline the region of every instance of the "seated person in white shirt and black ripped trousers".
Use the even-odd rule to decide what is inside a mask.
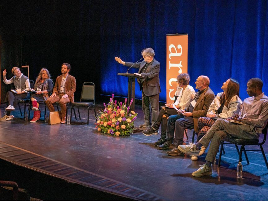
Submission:
[[[178,75],[177,83],[182,87],[176,102],[174,103],[178,109],[185,110],[194,98],[196,92],[192,86],[189,85],[190,75],[183,73]],[[172,107],[172,104],[166,104],[166,107],[162,107],[159,111],[156,122],[147,130],[143,131],[146,136],[157,135],[158,129],[161,125],[161,138],[154,143],[155,146],[162,145],[166,142],[167,122],[170,115],[177,115],[178,112]]]

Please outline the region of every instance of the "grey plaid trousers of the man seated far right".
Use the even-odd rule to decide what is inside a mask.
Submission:
[[[221,141],[231,137],[257,139],[259,135],[256,133],[254,126],[240,125],[224,119],[217,119],[209,131],[199,141],[205,147],[208,147],[211,141],[206,160],[213,162],[219,151]]]

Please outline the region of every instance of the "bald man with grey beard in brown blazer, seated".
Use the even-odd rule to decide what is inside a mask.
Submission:
[[[161,150],[172,149],[167,154],[171,156],[183,155],[178,145],[183,143],[184,128],[194,126],[198,133],[198,118],[205,117],[215,94],[209,88],[209,77],[201,75],[196,79],[196,95],[186,110],[179,110],[178,115],[169,116],[167,125],[167,142],[158,146]],[[175,138],[174,138],[175,134]],[[174,144],[173,144],[174,140]]]

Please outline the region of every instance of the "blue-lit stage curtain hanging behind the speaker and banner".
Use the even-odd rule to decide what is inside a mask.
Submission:
[[[166,100],[166,34],[188,33],[190,84],[199,75],[210,78],[215,93],[228,78],[240,83],[247,98],[252,77],[264,82],[268,95],[268,3],[250,1],[107,1],[100,10],[101,92],[127,96],[127,68],[114,60],[135,62],[152,47],[160,62],[160,100]],[[137,69],[130,69],[131,73]],[[135,97],[141,98],[136,82]]]

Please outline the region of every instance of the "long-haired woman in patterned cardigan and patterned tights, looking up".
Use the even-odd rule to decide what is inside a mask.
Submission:
[[[223,83],[221,89],[223,92],[218,93],[212,101],[207,112],[207,117],[198,119],[199,133],[196,142],[198,142],[214,124],[216,119],[227,119],[239,113],[242,108],[243,101],[239,98],[239,83],[230,78]],[[204,153],[205,147],[202,147]],[[197,160],[197,156],[191,156],[192,160]]]

